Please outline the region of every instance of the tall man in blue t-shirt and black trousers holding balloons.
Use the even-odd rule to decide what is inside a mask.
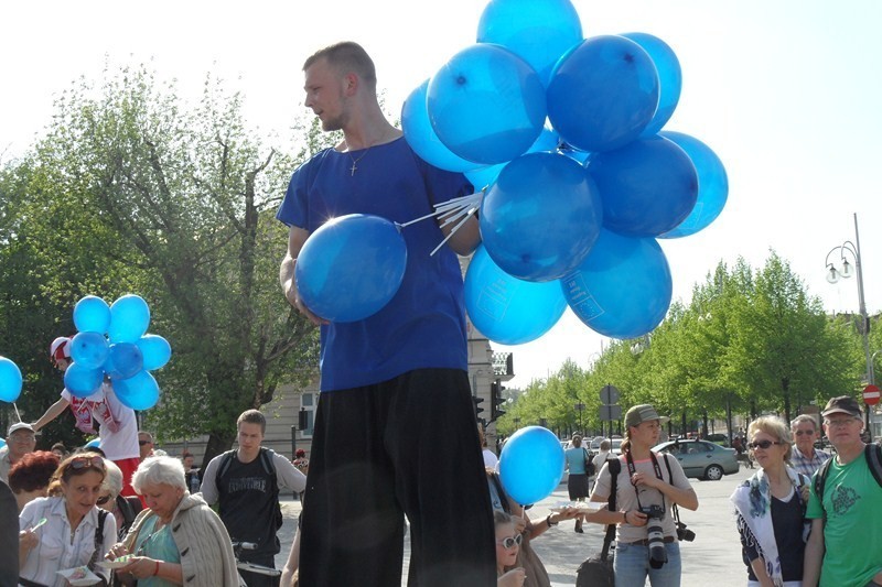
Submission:
[[[495,584],[493,515],[467,378],[463,283],[456,253],[480,241],[470,219],[401,230],[401,285],[378,313],[329,323],[298,295],[294,268],[327,219],[370,214],[395,222],[469,195],[459,173],[433,167],[379,107],[367,53],[345,42],[306,59],[305,106],[343,141],[291,177],[277,218],[290,227],[280,281],[288,301],[321,326],[321,395],[304,497],[303,585],[400,585],[405,515],[411,584]]]

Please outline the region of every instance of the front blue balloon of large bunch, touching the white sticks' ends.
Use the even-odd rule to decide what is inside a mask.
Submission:
[[[585,170],[556,153],[510,162],[481,204],[481,238],[493,261],[527,281],[579,267],[598,238],[602,204]]]

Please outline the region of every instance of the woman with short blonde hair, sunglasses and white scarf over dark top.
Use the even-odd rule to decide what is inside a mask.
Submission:
[[[809,479],[787,466],[793,437],[784,421],[759,417],[747,427],[747,437],[760,470],[730,498],[747,562],[747,585],[797,587],[803,584],[809,528],[805,519]]]

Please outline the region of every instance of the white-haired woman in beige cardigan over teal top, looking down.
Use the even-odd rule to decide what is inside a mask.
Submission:
[[[239,585],[233,544],[224,524],[202,496],[186,489],[184,466],[169,456],[146,458],[132,485],[147,500],[111,558],[132,554],[118,577],[139,587]]]

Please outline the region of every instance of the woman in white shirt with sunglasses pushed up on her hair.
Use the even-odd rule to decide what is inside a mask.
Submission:
[[[50,496],[28,503],[19,514],[21,585],[62,587],[58,570],[96,566],[116,541],[114,515],[96,507],[105,477],[104,459],[95,453],[65,458],[50,483]],[[23,579],[23,580],[21,580]]]

